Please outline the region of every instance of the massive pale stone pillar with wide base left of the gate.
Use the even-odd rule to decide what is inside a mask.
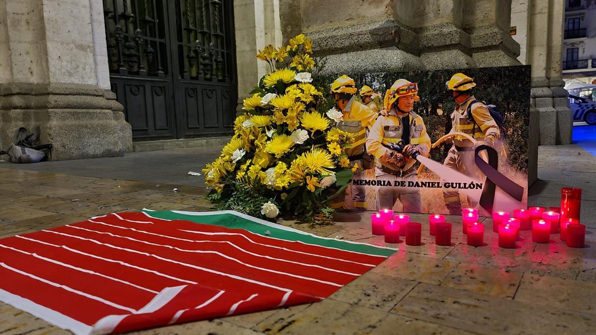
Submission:
[[[99,35],[105,45],[105,35],[93,33],[91,3],[5,0],[0,8],[11,72],[0,83],[0,148],[24,126],[54,144],[52,160],[122,156],[132,146],[131,127],[98,86],[94,42]]]

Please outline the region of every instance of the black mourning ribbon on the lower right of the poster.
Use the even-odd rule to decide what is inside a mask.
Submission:
[[[480,157],[480,151],[486,150],[488,154],[488,163]],[[522,201],[523,187],[517,185],[514,181],[504,176],[498,169],[499,156],[496,150],[488,145],[479,145],[474,151],[474,162],[476,166],[486,175],[485,186],[480,195],[480,206],[492,213],[492,208],[495,203],[496,186],[505,191],[517,201]]]

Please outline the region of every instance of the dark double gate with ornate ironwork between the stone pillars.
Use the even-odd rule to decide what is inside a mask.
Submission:
[[[232,0],[104,0],[111,90],[135,140],[229,134]]]

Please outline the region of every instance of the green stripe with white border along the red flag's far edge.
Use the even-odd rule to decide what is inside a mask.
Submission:
[[[303,243],[315,244],[317,246],[332,247],[352,252],[366,253],[368,255],[389,257],[397,251],[396,249],[377,247],[371,244],[318,237],[306,232],[300,232],[297,229],[284,227],[278,224],[272,224],[271,222],[263,221],[266,222],[266,224],[260,223],[258,222],[260,219],[232,211],[226,211],[226,213],[197,212],[197,214],[200,213],[198,215],[173,212],[170,210],[144,210],[144,212],[147,213],[147,215],[158,219],[185,220],[195,222],[197,224],[216,225],[229,229],[244,229],[265,237],[280,238],[281,240],[287,241],[301,241]],[[269,231],[270,234],[266,234],[266,231]]]

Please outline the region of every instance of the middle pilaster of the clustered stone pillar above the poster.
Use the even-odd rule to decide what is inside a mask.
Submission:
[[[417,33],[425,69],[475,67],[470,35],[462,30],[463,0],[393,2],[396,20]]]

